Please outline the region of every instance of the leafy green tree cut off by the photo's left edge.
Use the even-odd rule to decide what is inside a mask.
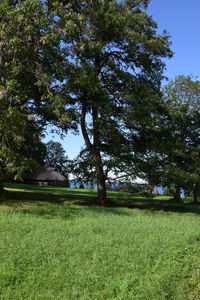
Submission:
[[[21,177],[38,160],[42,127],[50,114],[52,119],[45,100],[52,97],[52,78],[59,73],[56,36],[42,1],[1,1],[1,179],[11,170],[17,178]]]

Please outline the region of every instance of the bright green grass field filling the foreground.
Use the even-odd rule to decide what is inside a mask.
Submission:
[[[81,206],[89,191],[16,189],[0,204],[0,299],[200,299],[198,210]]]

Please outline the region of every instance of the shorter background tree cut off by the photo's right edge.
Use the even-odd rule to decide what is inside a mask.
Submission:
[[[163,90],[164,114],[157,115],[154,134],[146,134],[140,170],[154,185],[168,187],[176,201],[181,189],[200,195],[200,82],[177,76]]]

